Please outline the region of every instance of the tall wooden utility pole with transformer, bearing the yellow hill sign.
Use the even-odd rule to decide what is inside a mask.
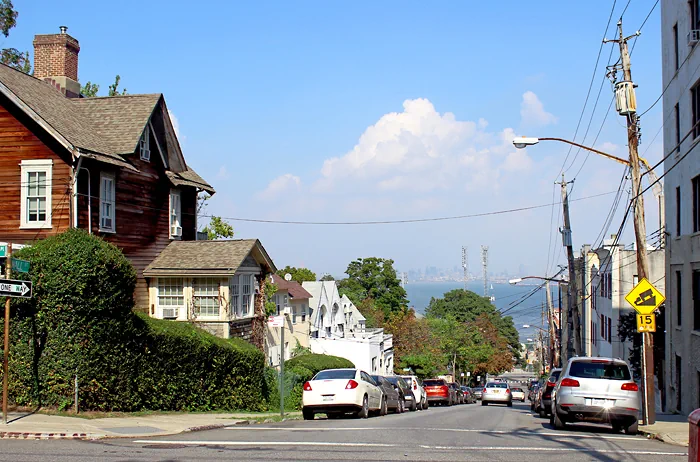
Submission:
[[[615,84],[616,106],[620,115],[627,120],[627,146],[630,156],[630,171],[632,173],[632,201],[634,212],[634,235],[637,251],[637,277],[641,281],[649,275],[649,262],[647,260],[647,230],[644,218],[644,197],[640,194],[641,174],[639,169],[639,118],[637,117],[637,102],[632,82],[632,69],[630,63],[627,41],[639,35],[625,37],[622,33],[622,19],[617,23],[618,38],[616,40],[604,40],[615,42],[620,46],[620,61],[622,65],[623,80]],[[615,69],[612,70],[614,76]],[[656,421],[655,387],[654,387],[654,339],[651,333],[642,333],[642,379],[644,386],[644,399],[642,400],[642,418],[645,425],[651,425]]]

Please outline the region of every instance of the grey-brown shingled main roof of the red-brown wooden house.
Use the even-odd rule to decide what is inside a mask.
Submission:
[[[179,143],[172,132],[163,95],[122,95],[98,98],[67,98],[48,82],[0,64],[0,94],[36,121],[71,154],[136,170],[128,157],[138,147],[144,128],[159,107],[167,119],[164,143],[151,150],[167,150],[179,165],[183,186],[194,186],[210,194],[214,189],[182,159]],[[171,178],[171,181],[173,179]]]

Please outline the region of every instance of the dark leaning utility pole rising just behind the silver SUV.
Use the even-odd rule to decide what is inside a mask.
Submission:
[[[571,181],[570,183],[573,183]],[[569,303],[567,304],[567,358],[573,358],[581,354],[581,325],[578,311],[578,284],[576,281],[576,267],[574,264],[574,247],[571,240],[571,221],[569,219],[569,193],[561,174],[561,203],[564,206],[564,228],[561,229],[561,238],[566,247],[566,256],[569,262]],[[573,331],[573,332],[572,332]]]

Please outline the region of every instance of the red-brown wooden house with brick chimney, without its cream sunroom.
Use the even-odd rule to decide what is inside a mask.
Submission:
[[[83,98],[78,41],[37,35],[34,75],[0,65],[0,241],[31,243],[82,228],[138,271],[174,241],[196,239],[197,194],[161,94]]]

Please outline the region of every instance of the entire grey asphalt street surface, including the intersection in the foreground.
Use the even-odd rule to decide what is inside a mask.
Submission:
[[[555,431],[530,414],[479,404],[374,417],[233,425],[143,440],[0,442],[0,460],[205,461],[658,461],[684,462],[685,448],[596,425]]]

